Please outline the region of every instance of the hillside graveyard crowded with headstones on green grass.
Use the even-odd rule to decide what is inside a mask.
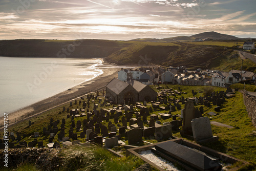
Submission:
[[[158,93],[157,99],[151,101],[114,104],[105,98],[104,91],[93,92],[11,125],[8,127],[9,148],[60,148],[72,153],[82,149],[86,151],[86,147],[92,145],[99,151],[108,149],[104,151],[106,156],[113,155],[105,162],[115,158],[119,165],[132,163],[131,167],[125,168],[132,170],[146,161],[140,159],[139,150],[154,146],[152,151],[160,154],[166,151],[164,143],[172,146],[173,143],[178,145],[183,142],[193,148],[202,145],[202,149],[209,148],[212,154],[227,155],[231,161],[227,164],[227,170],[237,170],[239,167],[241,170],[255,169],[256,129],[248,117],[240,92],[218,87],[171,84],[151,87]],[[79,144],[82,146],[79,147]],[[187,150],[181,145],[172,151],[178,148],[182,153]],[[133,149],[137,150],[136,155],[133,155]],[[173,154],[168,152],[162,155]],[[195,155],[204,157],[200,153]],[[191,163],[194,161],[181,158],[177,155],[170,160],[174,163],[178,161],[178,167],[189,170],[186,165],[193,165]],[[209,159],[205,160],[208,162]],[[101,162],[104,163],[103,159]],[[212,169],[198,165],[193,168]],[[154,163],[152,169],[159,170]]]

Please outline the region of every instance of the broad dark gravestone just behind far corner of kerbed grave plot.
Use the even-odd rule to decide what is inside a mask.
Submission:
[[[159,126],[155,128],[155,138],[156,140],[165,140],[172,137],[172,124],[167,124],[164,126]]]

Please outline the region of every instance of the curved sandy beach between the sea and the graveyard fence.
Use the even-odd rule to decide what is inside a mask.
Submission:
[[[24,118],[27,118],[28,113],[33,113],[34,111],[38,113],[38,110],[40,109],[48,109],[49,106],[52,106],[53,103],[57,103],[60,101],[67,101],[67,99],[72,99],[74,97],[79,97],[79,95],[84,94],[86,92],[93,92],[99,88],[102,88],[106,86],[107,83],[109,83],[114,77],[117,77],[118,71],[120,71],[121,67],[116,68],[108,68],[109,63],[102,62],[102,65],[100,67],[97,67],[97,69],[100,69],[103,71],[103,74],[95,77],[94,79],[90,81],[83,82],[75,87],[72,87],[69,90],[66,90],[64,92],[61,92],[59,94],[56,94],[52,97],[49,97],[47,99],[41,100],[39,102],[36,102],[34,104],[31,104],[29,106],[26,106],[25,108],[22,108],[20,110],[17,110],[15,112],[8,114],[8,120],[11,123],[15,120],[15,118],[20,118],[24,116]],[[105,66],[105,67],[104,67]],[[101,68],[102,67],[102,68]],[[4,120],[4,117],[1,117],[0,120]]]

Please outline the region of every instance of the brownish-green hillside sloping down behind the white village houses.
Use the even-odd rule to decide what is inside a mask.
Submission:
[[[173,46],[152,46],[137,44],[123,48],[108,60],[120,65],[139,65],[143,59],[162,66],[186,66],[189,69],[207,69],[218,58],[231,55],[232,50],[221,47],[173,44]],[[146,57],[145,57],[146,56]]]

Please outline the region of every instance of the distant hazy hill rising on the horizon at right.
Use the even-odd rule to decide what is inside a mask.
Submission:
[[[131,41],[190,41],[195,40],[195,38],[201,38],[201,39],[213,39],[213,40],[239,40],[239,39],[251,39],[251,38],[239,38],[236,36],[228,35],[228,34],[221,34],[214,31],[210,32],[204,32],[199,33],[191,36],[176,36],[176,37],[168,37],[168,38],[162,38],[162,39],[156,39],[156,38],[137,38],[133,39]]]

